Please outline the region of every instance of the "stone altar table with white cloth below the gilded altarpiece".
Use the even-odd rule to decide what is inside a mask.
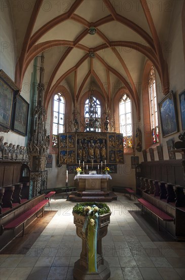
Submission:
[[[76,180],[77,179],[77,180]],[[78,191],[107,191],[107,181],[110,175],[76,175]]]

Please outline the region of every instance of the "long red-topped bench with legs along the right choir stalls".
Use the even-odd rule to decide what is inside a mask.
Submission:
[[[163,212],[161,209],[157,208],[156,206],[152,205],[150,202],[144,200],[144,199],[138,199],[138,202],[141,204],[141,214],[143,212],[143,206],[151,211],[154,215],[157,216],[157,222],[158,222],[158,230],[159,229],[159,219],[163,221],[173,221],[174,218],[169,216],[167,213]]]

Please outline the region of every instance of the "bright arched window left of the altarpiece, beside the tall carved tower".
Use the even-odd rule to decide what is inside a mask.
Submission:
[[[57,93],[53,100],[53,137],[52,146],[57,147],[58,133],[64,132],[64,115],[65,113],[65,99]]]

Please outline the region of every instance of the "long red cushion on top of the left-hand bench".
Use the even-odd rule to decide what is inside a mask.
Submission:
[[[24,221],[26,221],[28,218],[30,218],[34,213],[38,212],[40,209],[42,209],[46,204],[48,203],[48,200],[43,200],[42,202],[36,204],[34,207],[20,215],[19,217],[15,218],[15,220],[9,222],[6,226],[4,226],[4,229],[14,229],[21,225]]]

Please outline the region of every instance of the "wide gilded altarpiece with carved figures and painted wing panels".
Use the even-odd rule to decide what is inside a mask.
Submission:
[[[59,134],[59,164],[123,164],[123,135],[115,132]]]

